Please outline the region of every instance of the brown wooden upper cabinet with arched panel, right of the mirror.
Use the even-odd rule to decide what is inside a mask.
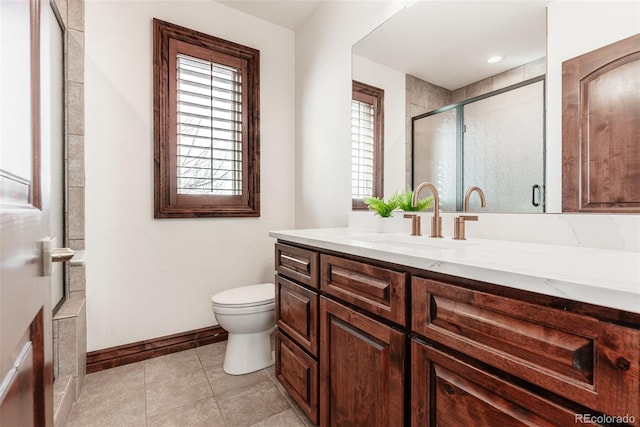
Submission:
[[[562,64],[563,212],[640,212],[640,34]]]

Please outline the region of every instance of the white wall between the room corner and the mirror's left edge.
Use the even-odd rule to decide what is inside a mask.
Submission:
[[[351,209],[351,46],[403,3],[324,1],[296,31],[297,228],[347,225]],[[395,175],[385,168],[387,179]]]

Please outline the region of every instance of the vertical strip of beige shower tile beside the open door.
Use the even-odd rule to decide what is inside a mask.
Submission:
[[[65,244],[84,250],[84,0],[54,3],[65,29]],[[65,268],[67,300],[53,318],[56,426],[66,424],[86,373],[86,270]]]

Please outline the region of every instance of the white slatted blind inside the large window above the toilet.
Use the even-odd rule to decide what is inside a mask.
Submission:
[[[240,70],[179,54],[177,192],[242,194]]]

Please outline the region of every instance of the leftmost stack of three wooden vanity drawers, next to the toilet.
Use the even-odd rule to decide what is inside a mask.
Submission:
[[[307,417],[318,423],[319,295],[317,252],[275,247],[275,374]]]

